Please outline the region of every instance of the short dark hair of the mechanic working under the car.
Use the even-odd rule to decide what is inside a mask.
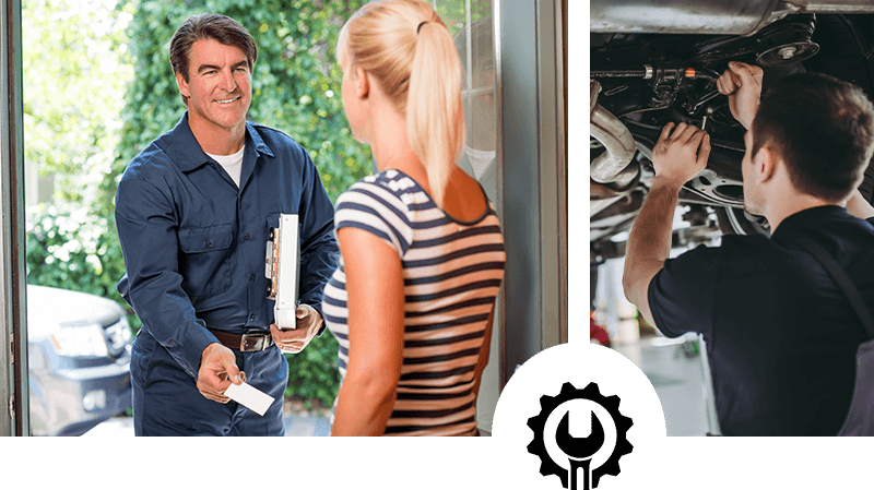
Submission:
[[[799,191],[836,202],[864,178],[874,152],[874,105],[854,84],[796,73],[761,97],[752,129],[753,156],[772,145]]]

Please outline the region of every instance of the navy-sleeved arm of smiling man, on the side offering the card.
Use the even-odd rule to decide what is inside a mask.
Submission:
[[[130,303],[142,327],[197,379],[204,349],[217,339],[181,287],[173,202],[152,183],[127,178],[118,186],[115,213]]]

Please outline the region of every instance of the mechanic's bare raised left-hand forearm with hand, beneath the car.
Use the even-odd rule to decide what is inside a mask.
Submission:
[[[674,129],[675,128],[675,129]],[[640,213],[635,218],[625,253],[622,278],[625,297],[650,323],[649,283],[664,267],[671,253],[671,234],[677,196],[683,184],[707,166],[710,136],[694,126],[669,122],[652,148],[656,177]]]

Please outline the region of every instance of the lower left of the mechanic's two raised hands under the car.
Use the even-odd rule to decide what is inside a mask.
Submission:
[[[652,148],[656,178],[682,187],[707,167],[708,156],[710,135],[707,131],[685,122],[669,122]]]

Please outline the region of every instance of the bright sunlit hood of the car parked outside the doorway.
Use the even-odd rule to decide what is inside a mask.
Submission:
[[[27,334],[31,340],[66,326],[103,326],[117,322],[125,310],[99,296],[46,286],[27,285]]]

